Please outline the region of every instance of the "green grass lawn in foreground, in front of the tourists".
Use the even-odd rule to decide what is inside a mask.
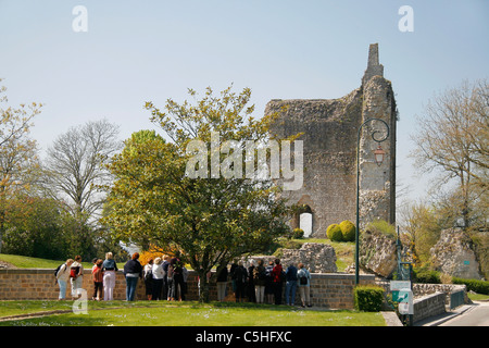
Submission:
[[[53,310],[67,313],[0,322],[0,326],[385,326],[381,313],[314,310],[288,306],[196,301],[88,301],[88,314],[73,301],[2,301],[0,318]],[[171,320],[168,320],[171,319]]]

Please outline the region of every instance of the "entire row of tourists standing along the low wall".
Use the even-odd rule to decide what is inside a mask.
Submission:
[[[102,300],[103,294],[103,300],[110,301],[114,297],[115,272],[118,271],[113,254],[108,252],[105,253],[105,260],[96,258],[92,263],[93,294],[91,298]],[[224,301],[226,298],[227,285],[230,281],[237,302],[248,298],[250,302],[283,304],[283,294],[285,294],[285,304],[294,306],[296,293],[299,289],[300,304],[311,307],[311,274],[303,263],[299,263],[296,268],[293,262],[290,262],[284,270],[279,259],[269,261],[266,266],[261,259],[258,262],[251,261],[248,268],[244,268],[242,262],[235,262],[229,270],[227,264],[220,266],[217,270],[218,301]],[[80,256],[76,256],[74,260],[66,260],[57,269],[54,275],[60,287],[60,300],[65,299],[68,282],[72,289],[72,299],[75,300],[80,297],[84,276]],[[139,279],[145,282],[148,300],[185,300],[188,270],[177,258],[158,257],[154,260],[150,259],[142,266],[139,262],[139,253],[135,252],[124,265],[124,276],[127,301],[134,301]]]

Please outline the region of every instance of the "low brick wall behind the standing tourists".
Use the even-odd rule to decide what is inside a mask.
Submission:
[[[39,269],[11,269],[0,270],[0,300],[55,300],[59,297],[59,287],[54,284],[53,270]],[[343,273],[316,274],[311,281],[311,301],[313,306],[331,309],[353,309],[354,275]],[[361,275],[362,284],[374,284],[373,275]],[[188,300],[198,300],[197,273],[189,271]],[[83,288],[91,299],[93,283],[89,270],[85,270]],[[285,289],[285,286],[284,286]],[[146,300],[145,283],[138,282],[136,299]],[[71,299],[71,287],[66,291],[66,298]],[[125,300],[126,284],[122,271],[116,272],[114,299]],[[231,294],[231,283],[228,284],[228,294]],[[215,300],[217,291],[215,281],[211,281],[210,298]],[[234,300],[231,296],[227,298]],[[296,303],[300,303],[299,291],[296,295]]]

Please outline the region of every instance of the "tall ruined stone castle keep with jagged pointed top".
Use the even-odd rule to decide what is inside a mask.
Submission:
[[[378,139],[386,132],[381,122],[367,122],[360,136],[360,224],[374,219],[394,223],[396,219],[396,121],[397,108],[391,83],[384,78],[378,45],[369,47],[367,69],[360,88],[338,99],[271,100],[265,114],[279,112],[271,133],[277,138],[303,133],[303,185],[284,190],[289,203],[302,207],[292,219],[292,228],[325,237],[333,223],[356,216],[356,144],[361,125],[381,119],[389,137],[381,142],[386,152],[380,165],[374,161]],[[308,222],[309,220],[309,222]]]

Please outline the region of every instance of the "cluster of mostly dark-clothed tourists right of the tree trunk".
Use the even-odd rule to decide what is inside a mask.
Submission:
[[[256,303],[294,306],[296,293],[299,289],[301,306],[311,307],[311,273],[303,263],[299,263],[296,268],[294,263],[290,262],[284,270],[279,259],[269,261],[266,266],[260,259],[258,263],[254,260],[251,261],[248,269],[242,262],[238,262],[234,263],[229,271],[227,266],[224,266],[218,272],[218,301],[223,301],[226,297],[227,282],[230,277],[237,302],[248,298],[248,301]],[[285,295],[285,302],[283,295]]]

